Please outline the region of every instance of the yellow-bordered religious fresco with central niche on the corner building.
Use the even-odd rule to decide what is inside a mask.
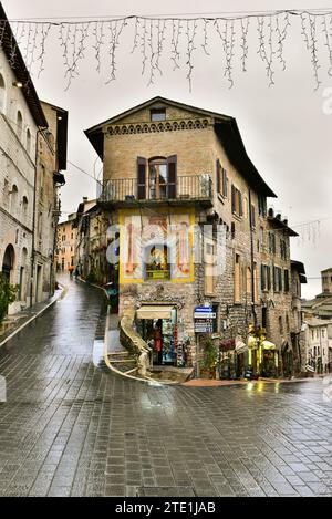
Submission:
[[[194,280],[194,209],[120,212],[120,282]]]

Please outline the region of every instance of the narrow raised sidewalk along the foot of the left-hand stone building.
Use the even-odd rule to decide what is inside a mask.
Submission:
[[[41,315],[45,310],[48,310],[52,304],[56,303],[60,298],[65,295],[66,288],[63,287],[59,290],[55,290],[54,295],[49,298],[46,301],[33,304],[33,307],[22,310],[22,312],[9,315],[4,320],[4,325],[0,326],[0,347],[12,339],[17,333],[23,330],[30,322],[34,321],[39,315]]]

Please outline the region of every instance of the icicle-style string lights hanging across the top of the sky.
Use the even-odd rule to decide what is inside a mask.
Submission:
[[[229,87],[234,85],[235,59],[238,58],[241,70],[247,71],[249,53],[250,19],[256,20],[258,55],[266,68],[269,86],[274,84],[274,60],[286,70],[284,43],[291,27],[291,19],[300,20],[300,34],[310,55],[314,90],[322,83],[320,77],[323,60],[321,52],[328,52],[328,74],[332,76],[332,11],[329,9],[312,10],[280,10],[280,11],[242,11],[238,13],[224,13],[224,15],[154,15],[154,17],[108,17],[100,20],[89,20],[85,17],[75,17],[75,21],[55,21],[58,19],[17,20],[12,22],[13,35],[8,41],[10,52],[9,62],[15,62],[18,46],[22,51],[29,72],[38,76],[44,71],[46,43],[58,32],[58,40],[63,56],[64,79],[66,89],[79,75],[79,64],[85,58],[86,50],[92,50],[96,60],[96,71],[102,72],[103,50],[107,49],[111,63],[107,69],[106,84],[114,81],[116,72],[116,52],[120,46],[120,37],[124,29],[132,29],[134,53],[141,49],[142,75],[147,71],[149,63],[148,84],[154,84],[155,72],[163,74],[162,58],[166,54],[165,46],[170,48],[173,69],[180,69],[183,60],[180,50],[186,49],[186,76],[189,90],[193,87],[193,71],[195,51],[210,56],[209,42],[212,38],[209,29],[214,27],[219,35],[224,54],[224,75]],[[81,19],[81,21],[77,21]],[[82,21],[82,19],[84,21]],[[53,20],[53,21],[52,21]],[[319,23],[320,21],[320,23]],[[0,20],[0,45],[6,33],[7,20]],[[238,45],[236,43],[239,42]],[[198,44],[196,44],[198,43]],[[239,55],[236,55],[239,53]],[[320,74],[319,74],[320,72]],[[27,85],[29,86],[29,85]]]

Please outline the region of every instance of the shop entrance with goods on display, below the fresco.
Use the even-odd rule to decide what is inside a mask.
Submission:
[[[142,307],[137,331],[153,350],[154,365],[177,365],[177,319],[174,307]]]

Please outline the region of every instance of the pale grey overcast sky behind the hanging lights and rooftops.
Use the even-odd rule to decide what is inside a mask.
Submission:
[[[303,3],[304,0],[293,0],[291,7],[315,7],[305,1],[307,3]],[[151,0],[2,0],[2,4],[9,19],[22,19],[207,13],[220,12],[220,9],[234,12],[248,9],[249,2],[225,0],[222,8],[220,0],[168,0],[166,3]],[[283,8],[289,8],[289,2],[250,2],[250,10]],[[97,174],[100,166],[95,164],[96,155],[83,129],[149,97],[162,95],[235,116],[248,155],[278,195],[278,199],[270,201],[276,210],[289,218],[294,230],[301,233],[300,239],[292,239],[292,258],[305,264],[309,283],[302,286],[303,295],[311,297],[321,291],[320,271],[332,267],[332,114],[323,110],[326,103],[324,95],[330,94],[332,97],[332,77],[326,74],[324,55],[319,71],[322,84],[317,92],[313,91],[310,54],[300,34],[300,20],[292,19],[291,22],[292,28],[284,42],[287,71],[281,72],[276,64],[276,85],[271,87],[268,87],[264,65],[257,53],[258,33],[253,27],[255,20],[249,29],[248,71],[242,73],[235,63],[232,89],[228,87],[224,76],[225,62],[220,41],[212,37],[209,39],[210,56],[203,52],[199,44],[194,51],[191,92],[186,80],[185,60],[181,61],[181,69],[173,72],[169,60],[165,58],[160,61],[163,76],[156,74],[155,84],[147,87],[148,77],[141,74],[139,53],[131,54],[132,27],[126,28],[123,33],[117,55],[117,79],[108,85],[105,84],[105,63],[102,63],[98,75],[94,52],[87,49],[80,76],[65,91],[62,55],[55,38],[46,46],[45,71],[40,79],[34,76],[33,81],[42,100],[69,110],[68,157],[90,175]],[[235,59],[239,62],[237,54],[238,52]],[[66,185],[62,189],[62,209],[74,211],[83,196],[95,197],[95,181],[69,164]],[[321,220],[320,226],[299,226],[303,221],[318,219]]]

